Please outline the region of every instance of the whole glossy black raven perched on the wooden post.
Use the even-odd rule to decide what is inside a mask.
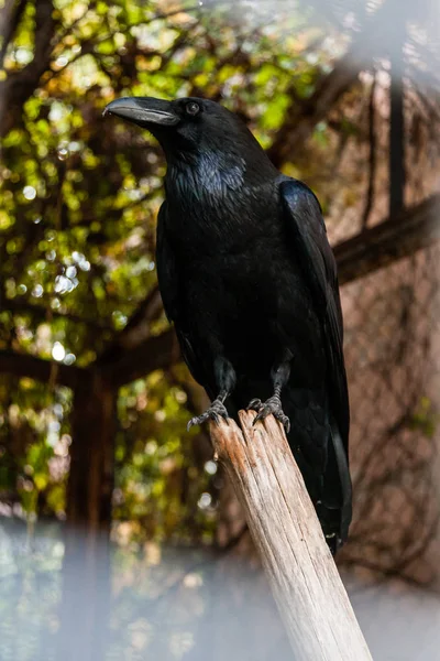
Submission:
[[[157,277],[182,353],[212,400],[191,424],[254,409],[287,432],[330,549],[351,521],[342,313],[321,208],[213,101],[120,98],[166,160]],[[255,399],[258,398],[258,399]]]

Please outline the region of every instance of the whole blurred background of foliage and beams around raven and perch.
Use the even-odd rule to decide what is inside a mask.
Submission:
[[[0,658],[290,659],[156,284],[164,158],[102,119],[202,96],[334,247],[375,659],[440,659],[438,0],[0,2]]]

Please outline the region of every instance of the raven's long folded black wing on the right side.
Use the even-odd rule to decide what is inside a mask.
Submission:
[[[324,475],[331,481],[339,476],[342,491],[342,535],[351,519],[351,480],[348,468],[350,409],[342,350],[343,327],[337,266],[330,248],[321,207],[314,193],[296,180],[283,177],[279,185],[287,234],[295,250],[315,310],[320,319],[328,360],[331,446]],[[324,487],[326,488],[326,487]]]

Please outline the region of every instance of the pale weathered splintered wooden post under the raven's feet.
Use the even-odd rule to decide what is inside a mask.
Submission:
[[[296,661],[371,660],[345,588],[282,426],[273,416],[253,426],[240,412],[211,423],[224,464],[260,550]]]

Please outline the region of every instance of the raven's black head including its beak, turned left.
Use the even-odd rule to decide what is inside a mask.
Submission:
[[[196,163],[209,154],[223,154],[235,163],[238,159],[245,161],[252,178],[276,172],[243,121],[215,101],[197,97],[173,101],[124,97],[109,104],[103,111],[107,113],[148,130],[161,143],[168,163]],[[267,170],[262,172],[264,165]]]

